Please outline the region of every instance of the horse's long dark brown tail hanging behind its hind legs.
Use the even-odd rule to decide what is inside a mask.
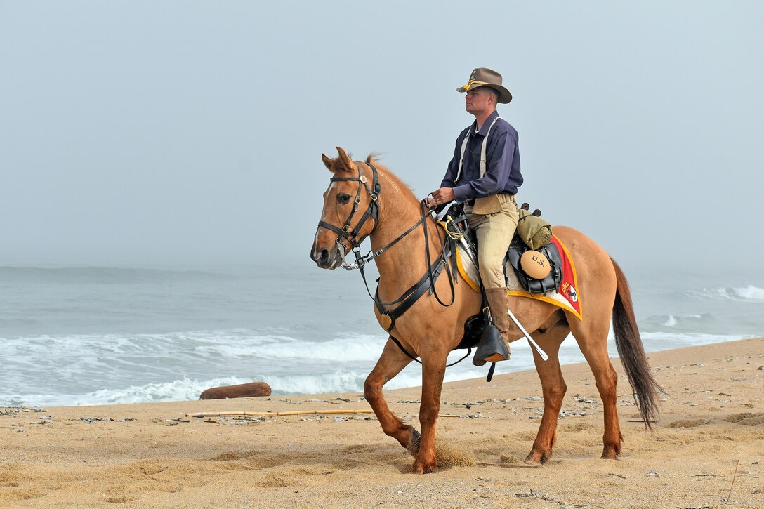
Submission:
[[[616,270],[617,280],[616,300],[613,303],[613,335],[623,369],[626,370],[626,378],[629,378],[631,384],[632,395],[639,405],[639,413],[646,426],[652,429],[652,423],[658,420],[658,391],[662,391],[662,388],[652,378],[642,339],[639,338],[626,276],[613,258],[610,261]]]

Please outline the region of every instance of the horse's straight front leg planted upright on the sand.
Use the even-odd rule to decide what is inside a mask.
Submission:
[[[432,352],[422,358],[422,403],[419,404],[419,423],[422,425],[422,436],[419,439],[419,452],[416,454],[413,472],[429,474],[435,472],[437,458],[435,457],[435,424],[438,422],[440,411],[440,394],[445,376],[445,361],[448,352],[438,355]]]

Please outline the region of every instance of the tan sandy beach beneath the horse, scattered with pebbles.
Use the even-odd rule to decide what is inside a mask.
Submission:
[[[587,365],[568,383],[549,463],[523,463],[539,425],[535,371],[445,384],[439,472],[373,415],[187,417],[367,410],[361,394],[0,409],[2,507],[764,507],[764,339],[649,354],[661,422],[644,430],[617,359],[620,461],[599,459]],[[417,422],[419,390],[388,391]],[[729,499],[727,499],[729,497]]]

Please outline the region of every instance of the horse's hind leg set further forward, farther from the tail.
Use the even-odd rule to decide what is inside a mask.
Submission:
[[[533,351],[533,361],[536,362],[536,371],[539,373],[544,395],[544,415],[541,418],[539,433],[533,441],[533,449],[525,459],[528,464],[547,462],[552,457],[552,449],[557,442],[557,420],[562,408],[562,398],[565,397],[568,388],[560,371],[558,352],[568,332],[568,326],[562,322],[545,334],[532,334],[533,339],[549,355],[549,359],[544,361],[538,352]]]

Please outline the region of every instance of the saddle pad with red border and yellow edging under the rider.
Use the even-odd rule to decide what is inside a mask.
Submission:
[[[520,285],[520,280],[517,279],[515,271],[512,266],[507,262],[504,267],[504,272],[507,274],[507,295],[513,297],[528,297],[529,299],[543,300],[555,306],[561,307],[563,310],[570,311],[579,320],[581,317],[581,295],[578,294],[578,279],[576,278],[575,265],[571,258],[568,249],[560,242],[560,239],[552,235],[552,240],[555,246],[557,246],[560,254],[562,254],[562,283],[557,287],[555,291],[547,292],[546,295],[533,294],[524,290]],[[456,261],[459,269],[459,274],[467,284],[475,290],[480,291],[480,274],[478,273],[478,267],[472,263],[470,257],[465,252],[465,249],[458,245],[456,251]]]

